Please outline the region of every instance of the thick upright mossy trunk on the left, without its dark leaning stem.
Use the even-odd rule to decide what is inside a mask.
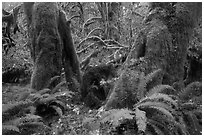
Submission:
[[[24,6],[30,15],[28,23],[34,61],[31,88],[40,90],[53,76],[60,75],[62,69],[59,10],[56,3],[28,3]]]

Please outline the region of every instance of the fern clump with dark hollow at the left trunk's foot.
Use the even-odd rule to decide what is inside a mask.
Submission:
[[[56,79],[55,76],[53,79]],[[51,79],[51,82],[53,81]],[[44,119],[53,116],[61,117],[67,108],[66,102],[72,98],[74,93],[67,89],[66,81],[57,84],[53,89],[45,88],[37,93],[31,94],[30,97],[36,106],[36,114]]]

